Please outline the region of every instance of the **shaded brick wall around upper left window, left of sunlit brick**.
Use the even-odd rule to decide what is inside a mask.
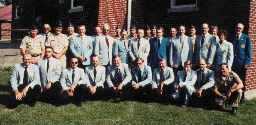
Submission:
[[[70,21],[77,32],[77,25],[83,24],[86,26],[86,35],[94,34],[94,27],[98,24],[98,0],[84,0],[83,11],[68,13],[70,10],[70,0],[65,0],[59,4],[59,18],[63,24],[62,33],[67,33],[67,25]]]

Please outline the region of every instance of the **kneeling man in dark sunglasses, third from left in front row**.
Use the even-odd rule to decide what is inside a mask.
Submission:
[[[71,58],[70,67],[62,71],[60,83],[63,91],[60,93],[59,104],[55,106],[69,102],[69,99],[72,97],[77,107],[82,106],[82,98],[87,90],[85,86],[86,77],[84,69],[78,68],[77,65],[78,59]]]

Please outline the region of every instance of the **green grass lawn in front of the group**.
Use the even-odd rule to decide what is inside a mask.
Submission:
[[[74,104],[54,107],[36,102],[35,107],[21,104],[15,109],[6,108],[9,101],[11,68],[0,69],[0,124],[256,124],[256,99],[239,105],[238,115],[229,114],[232,106],[221,111],[204,111],[196,107],[144,104],[126,101],[87,101],[82,107]]]

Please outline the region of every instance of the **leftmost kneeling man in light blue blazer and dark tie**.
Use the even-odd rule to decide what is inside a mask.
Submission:
[[[32,56],[26,53],[23,55],[23,63],[15,64],[12,69],[10,95],[13,108],[23,100],[33,107],[40,93],[39,68],[31,64],[31,61]]]

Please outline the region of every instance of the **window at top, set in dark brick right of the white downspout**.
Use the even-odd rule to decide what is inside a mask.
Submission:
[[[171,0],[168,12],[198,11],[197,0]]]

